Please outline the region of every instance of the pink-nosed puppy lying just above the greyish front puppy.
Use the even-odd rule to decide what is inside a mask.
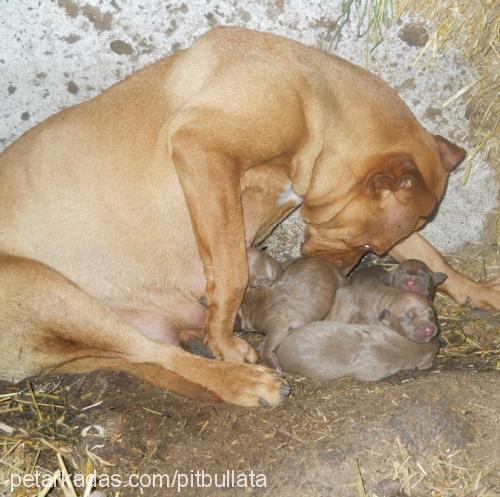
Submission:
[[[339,288],[327,319],[383,324],[417,343],[430,341],[438,332],[436,313],[426,297],[376,280]]]

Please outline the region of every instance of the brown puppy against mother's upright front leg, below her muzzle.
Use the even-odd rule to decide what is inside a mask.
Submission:
[[[269,256],[261,253],[260,258],[267,260]],[[250,273],[252,277],[258,274]],[[344,284],[344,276],[324,259],[304,257],[289,262],[270,287],[247,290],[238,311],[237,326],[266,335],[260,349],[261,358],[280,371],[276,350],[290,329],[324,319],[337,288]]]

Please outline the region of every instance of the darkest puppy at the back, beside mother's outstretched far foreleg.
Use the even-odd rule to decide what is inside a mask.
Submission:
[[[433,272],[425,262],[408,259],[391,270],[377,264],[361,267],[351,273],[349,281],[354,284],[382,281],[386,285],[419,293],[432,300],[436,287],[441,285],[446,278],[446,274]]]

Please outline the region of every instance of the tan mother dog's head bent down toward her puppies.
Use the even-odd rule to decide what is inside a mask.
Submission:
[[[383,254],[420,228],[443,196],[448,174],[465,157],[445,138],[427,136],[432,139],[407,147],[411,152],[361,161],[351,156],[337,159],[335,168],[320,157],[301,211],[302,253],[320,253],[348,268],[367,250]]]

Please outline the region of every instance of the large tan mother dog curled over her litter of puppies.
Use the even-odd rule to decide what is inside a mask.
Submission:
[[[498,282],[460,276],[411,235],[463,157],[345,60],[210,31],[1,156],[0,377],[113,368],[196,398],[280,403],[288,385],[248,364],[233,323],[246,248],[299,202],[304,254],[345,272],[368,249],[418,258],[459,302],[500,308]],[[202,328],[222,361],[179,347]]]

